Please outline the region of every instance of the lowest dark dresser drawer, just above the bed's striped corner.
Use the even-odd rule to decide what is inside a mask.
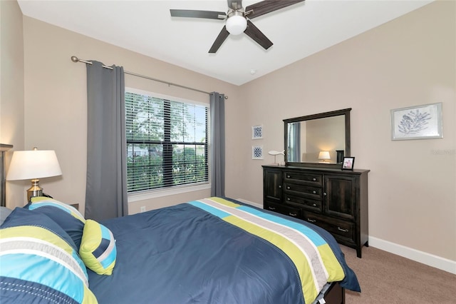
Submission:
[[[328,230],[338,240],[346,240],[350,244],[355,243],[355,224],[350,221],[328,218],[311,212],[304,214],[304,220]]]

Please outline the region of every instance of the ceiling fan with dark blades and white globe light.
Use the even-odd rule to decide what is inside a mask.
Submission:
[[[265,0],[242,7],[242,0],[227,0],[228,11],[197,11],[191,9],[170,9],[172,17],[188,17],[188,18],[204,18],[204,19],[219,19],[226,20],[226,24],[220,31],[219,36],[215,39],[212,44],[209,53],[215,53],[222,45],[223,41],[227,39],[229,34],[239,35],[244,32],[250,38],[254,39],[264,49],[269,49],[272,46],[272,42],[257,28],[254,26],[250,19],[254,19],[258,16],[270,13],[282,9],[286,6],[290,6],[304,0]]]

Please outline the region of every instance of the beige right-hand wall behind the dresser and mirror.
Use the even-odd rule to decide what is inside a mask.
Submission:
[[[355,168],[369,173],[369,234],[456,260],[455,2],[432,3],[240,88],[247,126],[264,125],[264,150],[283,147],[284,118],[351,111]],[[248,102],[247,102],[248,101]],[[442,139],[391,141],[390,110],[442,102]],[[253,143],[241,147],[249,158]],[[262,200],[261,165],[247,187]]]

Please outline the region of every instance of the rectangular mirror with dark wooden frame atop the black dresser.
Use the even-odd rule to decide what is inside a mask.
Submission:
[[[350,111],[284,119],[286,166],[341,166],[350,156]]]

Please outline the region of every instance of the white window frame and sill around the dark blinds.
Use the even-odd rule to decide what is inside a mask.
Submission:
[[[211,188],[211,161],[209,157],[210,153],[210,117],[211,117],[211,112],[210,112],[210,106],[209,102],[208,103],[203,103],[201,101],[193,101],[190,99],[185,99],[185,98],[180,98],[180,97],[175,97],[175,96],[168,96],[162,93],[155,93],[152,91],[144,91],[140,90],[138,88],[130,88],[130,87],[125,87],[125,94],[126,93],[135,93],[135,94],[140,94],[140,95],[145,95],[145,96],[151,96],[153,98],[160,98],[160,99],[165,99],[168,101],[176,101],[180,103],[188,103],[191,105],[196,105],[196,106],[204,106],[207,108],[207,181],[201,181],[201,182],[195,182],[195,183],[185,183],[182,185],[176,185],[176,186],[166,186],[162,188],[152,188],[152,189],[146,189],[146,190],[141,190],[141,191],[133,191],[133,192],[128,192],[128,201],[129,202],[134,202],[134,201],[142,201],[148,198],[158,198],[162,196],[170,196],[170,195],[175,195],[175,194],[180,194],[180,193],[187,193],[187,192],[192,192],[192,191],[202,191],[202,190],[207,190]],[[126,107],[126,103],[125,103]],[[126,108],[125,108],[126,110]],[[126,113],[126,111],[125,111]],[[128,144],[127,144],[128,147]],[[125,151],[126,153],[126,151]]]

